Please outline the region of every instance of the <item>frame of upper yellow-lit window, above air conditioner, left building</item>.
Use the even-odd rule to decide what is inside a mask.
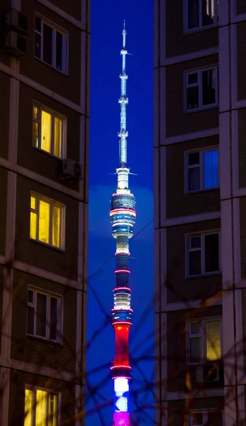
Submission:
[[[62,114],[55,111],[54,109],[50,109],[49,107],[46,107],[46,105],[40,104],[40,102],[33,101],[33,110],[34,108],[39,109],[39,118],[35,119],[33,114],[33,130],[34,130],[34,123],[39,124],[39,129],[38,129],[38,146],[35,146],[32,140],[33,148],[38,149],[47,155],[51,155],[52,157],[58,158],[59,160],[63,160],[67,158],[67,117],[63,116]],[[48,114],[51,114],[52,116],[52,124],[51,124],[51,148],[52,148],[51,151],[52,152],[45,151],[44,149],[40,147],[41,125],[42,125],[41,110],[47,112]],[[62,140],[61,140],[61,156],[60,157],[54,154],[55,117],[57,117],[57,119],[62,120],[62,138],[61,138]],[[33,133],[32,133],[32,138],[33,138]]]

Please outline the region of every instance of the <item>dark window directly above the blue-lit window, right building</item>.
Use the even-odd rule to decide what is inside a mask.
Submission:
[[[186,72],[186,112],[218,105],[218,67]]]

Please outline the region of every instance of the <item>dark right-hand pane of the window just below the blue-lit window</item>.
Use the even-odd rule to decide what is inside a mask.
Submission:
[[[219,271],[218,234],[205,235],[205,272]]]

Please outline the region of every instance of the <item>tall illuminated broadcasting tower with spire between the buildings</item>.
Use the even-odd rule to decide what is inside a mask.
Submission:
[[[112,324],[116,336],[116,349],[114,365],[111,367],[114,383],[113,426],[130,426],[129,408],[129,348],[128,335],[133,323],[133,310],[130,307],[130,287],[128,240],[133,236],[135,223],[135,197],[128,189],[129,168],[127,167],[127,137],[126,131],[126,80],[125,56],[125,21],[123,27],[123,48],[121,78],[121,131],[118,133],[120,165],[116,169],[118,186],[116,193],[111,198],[110,218],[113,227],[113,238],[116,239],[116,288],[113,290]]]

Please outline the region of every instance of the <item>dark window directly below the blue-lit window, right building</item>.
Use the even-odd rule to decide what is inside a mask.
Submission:
[[[220,236],[194,234],[188,236],[188,276],[205,275],[220,271]]]

